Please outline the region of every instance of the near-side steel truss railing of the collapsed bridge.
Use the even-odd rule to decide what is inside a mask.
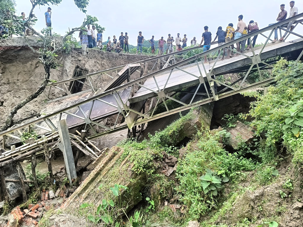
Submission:
[[[168,67],[166,68],[163,68],[155,72],[150,72],[144,77],[122,84],[118,87],[115,87],[111,90],[107,90],[100,94],[96,94],[92,97],[89,97],[88,99],[77,102],[68,107],[62,108],[58,111],[55,111],[54,113],[50,113],[45,116],[39,117],[37,119],[28,121],[27,123],[24,123],[22,125],[12,127],[11,129],[8,129],[0,133],[0,137],[2,137],[2,146],[4,147],[4,149],[7,149],[6,139],[10,137],[18,141],[20,140],[24,132],[33,129],[42,130],[44,134],[47,134],[48,137],[52,138],[53,135],[55,135],[58,132],[58,127],[56,126],[57,125],[56,122],[58,120],[63,119],[64,117],[65,118],[72,117],[73,119],[77,120],[78,123],[76,125],[73,125],[72,127],[85,125],[85,128],[86,127],[91,128],[93,135],[88,136],[87,138],[94,139],[108,133],[142,125],[151,120],[165,117],[173,113],[178,113],[180,111],[190,109],[194,106],[206,104],[214,100],[222,99],[230,95],[237,94],[245,90],[249,90],[251,88],[263,86],[265,84],[273,82],[274,78],[272,77],[262,78],[261,76],[262,69],[273,67],[273,63],[271,61],[267,61],[266,59],[290,51],[301,50],[303,48],[303,39],[302,39],[303,36],[295,33],[294,31],[288,31],[288,33],[295,35],[300,39],[297,40],[295,43],[277,42],[277,44],[274,45],[269,44],[268,41],[270,40],[270,37],[276,27],[285,31],[286,29],[282,27],[283,25],[294,19],[299,19],[302,16],[303,13],[298,14],[293,18],[286,19],[285,21],[278,22],[277,24],[268,26],[266,28],[262,28],[257,32],[248,34],[237,40],[233,40],[221,46],[215,47],[209,51],[205,51],[204,53],[197,54],[190,58],[176,62],[175,64],[172,64],[174,62],[166,61],[166,64],[168,65]],[[301,24],[301,22],[299,23]],[[265,35],[267,37],[267,40],[264,43],[264,45],[258,48],[252,48],[251,52],[240,53],[233,50],[240,56],[234,57],[231,60],[218,61],[220,58],[220,55],[218,55],[218,57],[214,61],[209,62],[207,64],[202,63],[203,57],[213,53],[214,51],[219,51],[219,50],[223,51],[224,48],[230,49],[231,44],[236,44],[239,41],[251,39],[253,36],[258,34],[264,35],[265,32],[267,31],[269,31],[270,34],[268,36]],[[273,45],[272,46],[273,48],[270,48],[271,45]],[[198,47],[188,48],[188,50],[195,48]],[[266,52],[267,49],[265,48],[269,48],[270,51]],[[185,52],[187,52],[187,50],[178,51],[178,53],[185,53]],[[266,54],[266,53],[270,53],[270,54]],[[303,51],[301,52],[297,60],[301,58],[302,54]],[[168,55],[172,56],[174,55],[174,53]],[[155,58],[160,59],[163,57],[158,56]],[[194,62],[194,64],[188,65],[188,63],[191,62]],[[246,69],[242,70],[242,71],[246,71],[246,73],[238,80],[237,83],[225,84],[224,82],[219,81],[215,78],[215,76],[218,74],[229,73],[231,69],[240,68],[240,67],[242,68],[246,67]],[[246,83],[247,78],[252,71],[256,71],[259,73],[260,81],[254,84]],[[182,84],[180,81],[180,83],[177,84],[176,86],[171,86],[170,85],[171,78],[173,78],[173,76],[171,75],[175,72],[181,72],[183,78],[186,77],[190,79],[186,83]],[[151,84],[152,81],[154,83],[154,87],[149,86],[148,84],[144,84],[144,82],[147,81],[148,79],[150,79],[149,85]],[[178,83],[178,81],[177,82],[175,81],[174,83]],[[223,86],[224,89],[228,91],[225,91],[224,93],[217,92],[216,84]],[[183,91],[192,95],[190,101],[176,99],[173,95],[185,87],[193,88],[192,91],[188,91],[188,92]],[[136,88],[136,90],[139,89],[139,91],[140,89],[145,90],[145,92],[147,93],[149,92],[150,94],[145,95],[141,100],[140,99],[135,100],[135,97],[131,97],[131,92],[127,93],[128,91],[134,88]],[[203,93],[201,92],[201,89],[203,90]],[[138,92],[135,94],[135,96],[137,94]],[[111,101],[107,99],[108,97],[111,97]],[[154,103],[154,105],[151,105],[151,108],[148,111],[144,112],[142,108],[146,100],[148,99],[150,99],[151,103]],[[168,100],[177,103],[179,106],[171,109],[171,107],[168,106],[167,103]],[[132,107],[130,107],[129,105],[130,102],[134,103],[132,104]],[[92,117],[92,114],[95,113],[94,111],[97,111],[94,108],[95,107],[94,105],[96,104],[103,105],[102,107],[103,109],[101,110],[98,109],[99,111],[98,113],[100,115],[102,115],[102,113],[105,112],[107,108],[115,109],[115,111],[117,112],[115,124],[111,126],[107,126],[105,124],[102,124],[101,121],[99,121],[101,117],[100,118]],[[162,111],[161,113],[157,113],[156,109],[160,104],[162,104],[165,107],[165,111]],[[106,108],[104,107],[104,105],[106,106]],[[120,116],[123,116],[125,118],[126,123],[118,123],[118,119],[121,118]],[[102,130],[98,131],[95,129],[96,127],[102,128]],[[29,145],[29,144],[23,145],[21,148],[20,147],[19,148],[23,149],[26,146],[33,146],[33,145]],[[11,150],[7,152],[11,152]],[[2,160],[2,158],[4,158],[2,156],[0,156],[0,161]]]

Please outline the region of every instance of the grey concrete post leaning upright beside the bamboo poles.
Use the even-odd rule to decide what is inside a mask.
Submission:
[[[58,144],[59,149],[63,152],[63,158],[65,163],[65,169],[69,184],[72,185],[72,179],[77,178],[74,156],[72,152],[71,139],[69,138],[68,128],[66,120],[57,121],[60,143]]]

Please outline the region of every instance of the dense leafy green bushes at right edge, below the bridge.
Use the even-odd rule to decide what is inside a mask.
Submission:
[[[283,143],[293,155],[292,162],[303,164],[303,130],[301,108],[303,101],[303,63],[295,64],[281,59],[272,71],[275,86],[251,104],[249,115],[255,118],[252,125],[258,136],[266,137],[258,155],[264,162],[274,160],[279,143]],[[303,124],[302,124],[303,125]]]

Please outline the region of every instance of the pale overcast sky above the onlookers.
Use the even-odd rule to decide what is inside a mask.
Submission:
[[[152,35],[158,40],[163,36],[167,38],[168,33],[173,37],[177,33],[183,37],[187,34],[189,40],[194,36],[201,41],[203,27],[207,25],[208,31],[215,37],[218,26],[226,28],[228,23],[237,26],[238,15],[244,16],[243,21],[248,24],[250,20],[258,22],[259,28],[264,28],[270,23],[275,23],[280,5],[284,3],[285,9],[289,12],[289,0],[176,0],[176,1],[101,1],[90,0],[87,14],[96,16],[98,24],[105,27],[103,41],[113,35],[118,38],[121,32],[128,32],[129,43],[136,45],[138,31],[142,31],[145,39]],[[26,17],[31,9],[29,0],[16,0],[17,11],[25,12]],[[303,12],[303,1],[297,0],[295,6],[299,13]],[[80,11],[73,0],[62,0],[58,6],[51,5],[53,32],[65,34],[68,28],[75,28],[82,24],[85,14]],[[38,18],[35,25],[36,30],[45,28],[45,16],[47,6],[36,7],[34,13]],[[303,25],[298,25],[295,32],[302,34]],[[74,35],[78,39],[78,34]],[[264,42],[265,39],[258,37],[257,42]]]

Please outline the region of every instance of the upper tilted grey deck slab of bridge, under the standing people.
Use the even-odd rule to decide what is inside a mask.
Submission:
[[[262,59],[267,59],[267,58],[271,58],[271,57],[276,57],[278,55],[300,49],[300,48],[302,48],[302,45],[303,45],[302,43],[303,43],[303,39],[300,38],[300,39],[295,40],[295,42],[292,42],[292,43],[278,42],[275,44],[268,44],[265,46],[263,52],[260,55],[260,58],[262,60]],[[256,55],[258,55],[260,53],[261,48],[262,48],[262,46],[255,48]],[[248,51],[246,53],[246,55],[249,57],[252,57],[253,53],[252,53],[252,51]],[[215,60],[204,64],[206,71],[209,72],[214,64],[215,64]],[[220,59],[215,64],[215,67],[213,69],[213,74],[215,74],[215,75],[225,74],[225,73],[228,73],[228,71],[231,69],[239,68],[239,67],[242,67],[245,65],[250,65],[250,64],[251,64],[251,59],[247,58],[243,55],[238,55],[238,56],[232,57],[230,59],[224,59],[224,60]],[[199,62],[199,67],[200,67],[203,77],[206,77],[201,61]],[[180,68],[191,74],[194,74],[197,77],[200,76],[200,72],[199,72],[199,69],[198,69],[196,63],[192,63],[189,65],[180,67]],[[161,90],[164,88],[169,74],[170,74],[170,71],[163,73],[161,75],[158,75],[156,77],[157,84]],[[195,84],[199,84],[199,79],[197,77],[194,77],[194,76],[187,74],[183,71],[180,71],[178,69],[174,69],[169,78],[169,81],[165,87],[165,91],[170,92],[170,91],[182,89],[184,87],[190,87]],[[144,86],[157,92],[158,91],[157,84],[155,83],[154,78],[151,77],[145,81]],[[145,87],[141,87],[135,93],[135,96],[133,96],[132,98],[129,99],[130,102],[138,102],[140,100],[145,100],[147,98],[156,96],[155,92],[152,92],[151,90],[148,90]]]

